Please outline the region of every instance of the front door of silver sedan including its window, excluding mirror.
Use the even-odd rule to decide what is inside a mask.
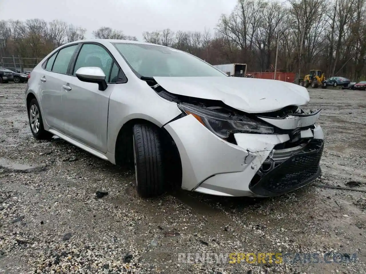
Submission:
[[[115,70],[112,57],[102,46],[95,43],[82,45],[72,75],[85,66],[96,66],[105,73],[105,80]],[[118,70],[117,70],[118,71]],[[102,152],[107,152],[107,126],[109,96],[115,84],[109,84],[105,91],[98,90],[98,84],[80,81],[76,76],[68,76],[64,85],[71,88],[62,96],[66,106],[65,131],[70,137]]]

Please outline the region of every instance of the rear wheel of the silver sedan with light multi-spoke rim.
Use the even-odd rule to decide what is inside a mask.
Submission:
[[[42,114],[36,98],[29,102],[28,118],[30,130],[34,138],[38,140],[50,140],[52,138],[53,134],[46,131],[43,127]]]

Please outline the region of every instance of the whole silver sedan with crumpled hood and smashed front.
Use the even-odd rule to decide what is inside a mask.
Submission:
[[[321,110],[304,87],[229,77],[169,47],[122,40],[60,46],[25,91],[33,136],[134,166],[141,197],[167,189],[270,197],[317,178]]]

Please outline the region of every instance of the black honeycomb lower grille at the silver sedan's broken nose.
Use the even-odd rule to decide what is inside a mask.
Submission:
[[[320,175],[323,148],[323,140],[312,140],[303,152],[289,157],[271,171],[258,172],[250,183],[250,190],[257,195],[276,196],[305,186]]]

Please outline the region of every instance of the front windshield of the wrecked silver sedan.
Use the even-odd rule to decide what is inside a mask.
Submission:
[[[113,43],[137,76],[228,77],[213,66],[186,52],[153,45]]]

